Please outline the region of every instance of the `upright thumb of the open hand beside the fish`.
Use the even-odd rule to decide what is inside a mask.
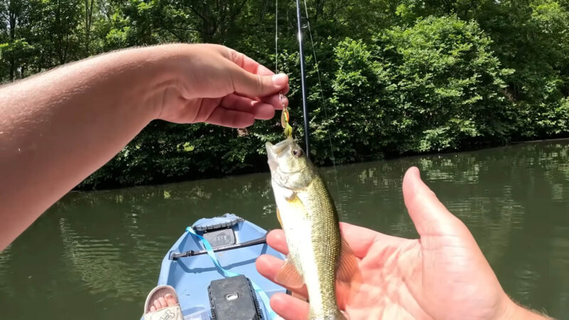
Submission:
[[[469,231],[445,208],[434,192],[422,182],[419,169],[413,166],[403,177],[403,199],[411,220],[421,237],[454,235],[464,237]]]

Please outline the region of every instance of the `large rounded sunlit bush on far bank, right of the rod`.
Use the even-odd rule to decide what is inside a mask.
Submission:
[[[339,162],[443,151],[507,139],[504,75],[474,21],[430,17],[346,38],[335,48],[331,132]]]

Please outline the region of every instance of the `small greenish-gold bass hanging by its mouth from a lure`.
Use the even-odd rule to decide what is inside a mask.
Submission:
[[[349,283],[357,273],[357,260],[341,238],[326,183],[291,136],[265,147],[277,218],[289,248],[275,281],[292,288],[307,285],[309,319],[346,319],[336,304],[336,277]]]

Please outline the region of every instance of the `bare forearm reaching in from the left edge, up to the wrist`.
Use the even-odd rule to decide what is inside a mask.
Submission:
[[[125,50],[0,88],[0,250],[156,117],[160,60]]]

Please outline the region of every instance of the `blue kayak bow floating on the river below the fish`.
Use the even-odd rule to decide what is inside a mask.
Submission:
[[[203,240],[191,231],[211,244],[220,267],[233,272],[233,276],[242,274],[245,277],[227,277],[228,274],[216,267],[208,255]],[[267,245],[266,235],[266,230],[230,213],[197,220],[166,253],[158,284],[169,284],[176,289],[185,320],[210,320],[216,319],[217,312],[235,312],[234,308],[243,306],[237,298],[248,296],[248,292],[257,306],[259,318],[270,319],[261,294],[252,287],[257,287],[260,289],[257,291],[265,292],[268,297],[276,292],[286,292],[286,289],[262,277],[257,272],[255,260],[262,254],[281,259],[285,256]],[[246,288],[248,284],[252,285],[250,290]],[[230,292],[232,286],[237,286],[235,293]],[[212,306],[216,309],[213,316]],[[223,316],[217,314],[217,319],[223,319]]]

